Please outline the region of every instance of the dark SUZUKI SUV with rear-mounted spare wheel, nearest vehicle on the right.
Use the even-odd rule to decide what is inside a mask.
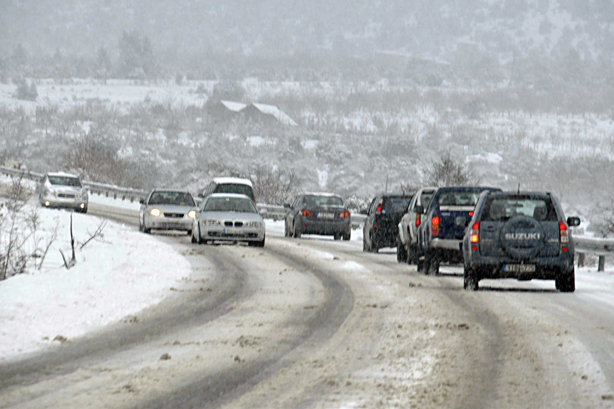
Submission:
[[[484,192],[463,242],[464,288],[478,289],[483,278],[554,280],[556,289],[575,291],[574,246],[553,194]]]

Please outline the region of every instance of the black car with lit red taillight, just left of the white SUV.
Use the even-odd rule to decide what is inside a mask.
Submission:
[[[382,193],[373,198],[363,226],[362,251],[397,247],[398,223],[415,193]]]

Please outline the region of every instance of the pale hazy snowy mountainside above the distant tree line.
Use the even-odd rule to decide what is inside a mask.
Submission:
[[[598,0],[287,2],[5,0],[0,52],[111,50],[138,31],[158,53],[293,55],[394,51],[449,60],[459,44],[497,58],[614,56],[614,3]]]

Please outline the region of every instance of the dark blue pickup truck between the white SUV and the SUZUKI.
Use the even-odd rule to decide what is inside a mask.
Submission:
[[[473,216],[480,193],[501,191],[483,186],[448,186],[433,193],[426,208],[415,206],[423,215],[418,227],[418,271],[438,274],[441,262],[462,262],[462,240]]]

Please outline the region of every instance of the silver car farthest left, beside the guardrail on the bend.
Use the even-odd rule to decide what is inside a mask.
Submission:
[[[41,206],[72,208],[87,213],[88,191],[77,175],[49,172],[39,180],[34,194]]]

